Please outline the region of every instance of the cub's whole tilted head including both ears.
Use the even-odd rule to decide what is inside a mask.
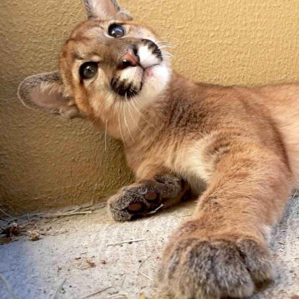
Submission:
[[[26,78],[24,105],[64,117],[105,121],[120,103],[150,105],[170,79],[165,45],[148,27],[132,21],[116,0],[83,0],[88,19],[64,43],[60,71]]]

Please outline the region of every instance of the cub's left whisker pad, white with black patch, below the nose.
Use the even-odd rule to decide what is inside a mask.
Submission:
[[[138,95],[146,81],[155,76],[154,68],[160,65],[159,63],[153,64],[147,68],[134,67],[127,69],[127,75],[121,74],[111,80],[111,89],[120,96],[131,98]],[[127,77],[127,78],[126,78]]]

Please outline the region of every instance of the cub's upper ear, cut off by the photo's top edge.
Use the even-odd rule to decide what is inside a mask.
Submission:
[[[117,0],[82,0],[88,18],[101,20],[132,20],[129,11],[123,9]]]

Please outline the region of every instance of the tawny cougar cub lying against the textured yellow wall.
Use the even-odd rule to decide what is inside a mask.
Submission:
[[[109,199],[115,220],[198,197],[157,273],[171,298],[251,296],[275,277],[270,230],[299,175],[299,85],[190,82],[116,0],[83,2],[88,19],[64,43],[60,70],[25,79],[20,100],[122,141],[136,182]]]

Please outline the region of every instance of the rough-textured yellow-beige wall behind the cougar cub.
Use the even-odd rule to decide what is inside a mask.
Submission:
[[[299,80],[298,0],[122,0],[177,46],[173,67],[219,84]],[[27,75],[54,70],[85,17],[79,0],[0,1],[0,207],[10,213],[99,200],[130,181],[120,145],[18,102]]]

